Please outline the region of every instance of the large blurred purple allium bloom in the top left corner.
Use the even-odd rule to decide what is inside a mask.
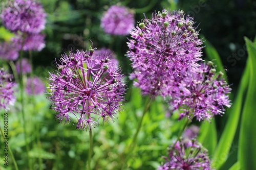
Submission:
[[[46,13],[42,6],[33,0],[14,0],[3,10],[3,25],[12,32],[38,34],[45,29]]]

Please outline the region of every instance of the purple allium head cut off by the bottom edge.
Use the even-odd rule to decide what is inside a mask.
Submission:
[[[165,163],[158,170],[211,170],[208,151],[195,139],[181,139],[168,148]]]

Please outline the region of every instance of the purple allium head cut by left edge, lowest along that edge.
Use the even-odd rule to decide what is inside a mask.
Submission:
[[[13,94],[16,83],[12,79],[12,75],[8,74],[4,68],[0,68],[0,109],[5,109],[6,111],[10,109],[8,106],[14,105],[16,101]]]

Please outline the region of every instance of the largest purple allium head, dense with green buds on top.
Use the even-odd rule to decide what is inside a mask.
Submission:
[[[127,43],[127,57],[132,61],[135,86],[143,94],[167,96],[172,94],[183,75],[194,72],[201,57],[201,39],[194,21],[183,11],[153,13],[133,31]]]

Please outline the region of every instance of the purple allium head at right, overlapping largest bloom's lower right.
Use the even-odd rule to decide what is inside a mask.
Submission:
[[[231,88],[222,76],[222,72],[216,73],[211,61],[187,75],[179,84],[179,95],[170,101],[174,109],[183,111],[179,119],[196,117],[199,121],[210,121],[211,117],[224,114],[224,106],[230,107],[228,93]]]

